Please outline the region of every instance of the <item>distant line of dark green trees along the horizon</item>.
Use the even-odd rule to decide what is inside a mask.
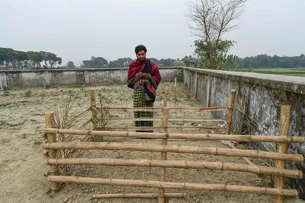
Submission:
[[[185,56],[182,59],[155,59],[149,58],[156,63],[159,67],[170,66],[187,66],[197,67],[196,57]],[[128,67],[131,61],[135,59],[120,58],[115,61],[108,62],[102,57],[92,56],[90,60],[82,61],[81,68],[120,68]],[[68,61],[67,64],[61,65],[61,58],[54,53],[40,51],[17,51],[11,48],[0,47],[0,70],[34,70],[34,69],[64,69],[64,68],[76,68],[73,61]],[[266,54],[257,55],[255,57],[237,58],[235,65],[230,68],[247,68],[251,64],[252,68],[294,68],[305,67],[305,56],[301,54],[296,57],[279,57],[274,55],[273,57]]]

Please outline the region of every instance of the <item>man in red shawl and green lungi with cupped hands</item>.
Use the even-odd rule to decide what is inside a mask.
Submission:
[[[154,107],[156,89],[161,81],[158,66],[146,58],[146,47],[135,48],[137,61],[129,65],[127,86],[133,91],[133,107]],[[152,111],[135,111],[135,118],[152,118]],[[153,126],[153,121],[136,121],[136,127]],[[153,130],[136,130],[136,132],[153,132]]]

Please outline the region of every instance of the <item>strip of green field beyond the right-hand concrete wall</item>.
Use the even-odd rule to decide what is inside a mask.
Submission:
[[[232,69],[233,71],[248,72],[248,68]],[[305,77],[305,68],[253,68],[253,73]]]

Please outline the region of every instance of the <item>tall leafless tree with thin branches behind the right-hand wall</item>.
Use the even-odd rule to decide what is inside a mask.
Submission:
[[[184,13],[191,34],[201,38],[211,69],[218,68],[221,36],[239,27],[247,0],[188,0]],[[232,42],[232,41],[228,41]]]

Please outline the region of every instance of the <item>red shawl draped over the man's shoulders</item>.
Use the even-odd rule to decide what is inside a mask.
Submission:
[[[142,72],[146,61],[147,61],[147,58],[145,58],[144,61],[132,61],[130,63],[129,69],[128,69],[127,82],[130,81],[133,77],[135,77],[135,75],[137,73]],[[149,74],[155,79],[155,81],[158,85],[161,81],[161,76],[160,76],[159,68],[154,62],[151,62],[151,68],[150,68]]]

